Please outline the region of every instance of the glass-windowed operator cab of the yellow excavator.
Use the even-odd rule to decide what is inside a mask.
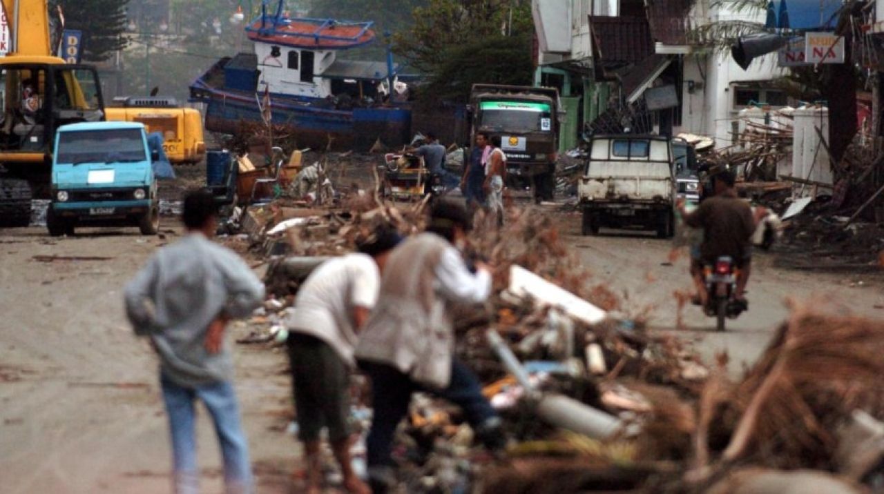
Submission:
[[[0,93],[0,158],[8,161],[32,162],[38,156],[25,155],[50,153],[61,125],[104,119],[101,87],[92,67],[0,65]]]

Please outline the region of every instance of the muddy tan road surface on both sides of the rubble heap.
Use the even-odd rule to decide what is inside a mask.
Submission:
[[[170,448],[156,382],[156,361],[126,323],[122,287],[180,228],[164,219],[163,237],[136,229],[78,231],[50,239],[45,229],[0,231],[0,478],[9,494],[168,492]],[[706,357],[731,355],[732,369],[752,361],[787,314],[784,300],[814,300],[830,310],[884,317],[880,277],[781,270],[758,256],[750,311],[726,333],[688,307],[674,330],[673,292],[687,289],[687,260],[669,263],[670,244],[644,234],[566,234],[593,281],[626,293],[630,311],[647,309],[656,331],[673,331]],[[44,257],[45,256],[45,257]],[[76,259],[76,258],[87,259]],[[96,259],[96,258],[106,259]],[[74,259],[71,259],[74,258]],[[88,259],[91,258],[91,259]],[[862,285],[859,282],[863,282]],[[248,329],[234,327],[231,338]],[[237,346],[240,396],[257,491],[298,491],[300,467],[284,353]],[[210,421],[198,426],[204,492],[220,492],[220,458]]]

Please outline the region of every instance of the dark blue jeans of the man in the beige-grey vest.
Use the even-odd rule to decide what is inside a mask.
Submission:
[[[451,383],[444,390],[423,389],[398,369],[377,362],[361,362],[371,377],[371,407],[374,415],[366,439],[368,464],[371,469],[392,467],[392,440],[399,422],[408,414],[411,393],[426,391],[447,399],[463,409],[474,430],[499,424],[497,413],[482,395],[476,375],[460,361],[453,359]]]

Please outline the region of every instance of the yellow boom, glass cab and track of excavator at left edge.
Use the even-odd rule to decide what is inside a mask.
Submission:
[[[0,0],[9,46],[0,57],[0,226],[27,225],[48,198],[56,130],[104,119],[98,73],[65,63],[50,40],[46,0]]]

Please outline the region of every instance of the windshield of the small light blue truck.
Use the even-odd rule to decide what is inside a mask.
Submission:
[[[63,132],[57,163],[126,163],[147,161],[140,129]]]

